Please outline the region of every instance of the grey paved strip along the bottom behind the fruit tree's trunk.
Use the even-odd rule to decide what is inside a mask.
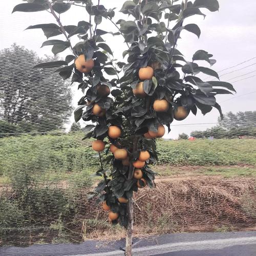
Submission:
[[[87,241],[81,244],[2,247],[4,256],[108,256],[124,252],[124,240]],[[256,256],[256,231],[179,233],[134,239],[134,256]]]

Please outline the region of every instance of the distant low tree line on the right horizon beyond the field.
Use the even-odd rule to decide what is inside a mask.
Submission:
[[[256,111],[228,112],[219,124],[205,131],[193,131],[191,137],[196,138],[238,138],[239,136],[256,137]]]

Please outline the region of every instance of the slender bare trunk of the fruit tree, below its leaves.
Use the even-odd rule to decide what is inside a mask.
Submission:
[[[126,233],[125,256],[132,256],[133,245],[133,199],[127,203],[128,225]]]

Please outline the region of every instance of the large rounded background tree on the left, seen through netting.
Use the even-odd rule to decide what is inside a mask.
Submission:
[[[0,52],[0,119],[20,124],[19,132],[62,129],[69,119],[70,84],[52,69],[33,69],[38,61],[54,60],[15,44]]]

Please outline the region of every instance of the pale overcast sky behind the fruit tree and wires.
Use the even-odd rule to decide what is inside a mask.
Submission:
[[[117,10],[121,9],[123,2],[121,0],[101,0],[101,3],[106,8],[117,7]],[[22,45],[35,51],[39,56],[51,55],[50,47],[40,48],[42,42],[47,40],[41,30],[24,31],[24,29],[30,25],[55,23],[54,18],[45,11],[35,13],[15,12],[11,14],[13,7],[20,3],[23,2],[21,0],[0,1],[0,49],[8,48],[16,42],[17,45]],[[191,59],[193,54],[200,49],[213,54],[214,58],[217,59],[217,63],[212,68],[216,71],[256,57],[256,1],[219,0],[219,3],[219,12],[209,12],[202,9],[207,15],[205,19],[201,16],[187,18],[186,23],[197,23],[199,25],[201,29],[200,39],[196,35],[184,31],[181,33],[182,39],[178,41],[178,49],[187,60]],[[116,12],[114,19],[124,18],[123,15]],[[72,7],[67,13],[61,14],[61,20],[63,25],[77,25],[79,20],[88,20],[88,14],[83,8]],[[114,25],[105,19],[103,19],[98,28],[106,31],[117,31]],[[104,39],[114,49],[115,57],[120,59],[122,52],[126,49],[126,45],[123,44],[121,36],[111,37],[111,35],[104,36]],[[70,54],[68,50],[61,54],[60,57],[67,54]],[[251,66],[245,68],[249,65]],[[236,71],[238,69],[242,70]],[[223,75],[221,80],[232,82],[256,75],[256,58],[236,68],[220,72],[220,75],[229,72],[232,73]],[[249,72],[252,73],[245,75]],[[221,95],[217,97],[217,101],[221,103],[224,113],[228,111],[256,110],[255,78],[256,76],[234,82],[233,86],[237,90],[236,95]],[[74,86],[74,106],[77,105],[78,99],[82,96],[81,91],[76,91],[76,89],[76,86]],[[247,95],[240,96],[243,94]],[[177,138],[179,133],[182,132],[189,134],[194,130],[205,130],[213,125],[198,123],[215,123],[218,116],[219,113],[215,109],[205,116],[201,115],[201,113],[196,117],[190,114],[184,121],[174,121],[172,131],[170,134],[166,134],[165,138]]]

